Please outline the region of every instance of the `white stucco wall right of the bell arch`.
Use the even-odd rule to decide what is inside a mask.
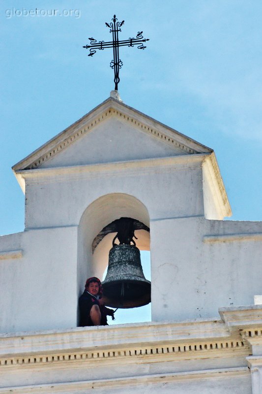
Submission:
[[[152,321],[215,317],[221,305],[252,304],[262,292],[262,239],[230,234],[256,231],[262,232],[261,222],[153,220]],[[229,236],[206,242],[221,233]]]

